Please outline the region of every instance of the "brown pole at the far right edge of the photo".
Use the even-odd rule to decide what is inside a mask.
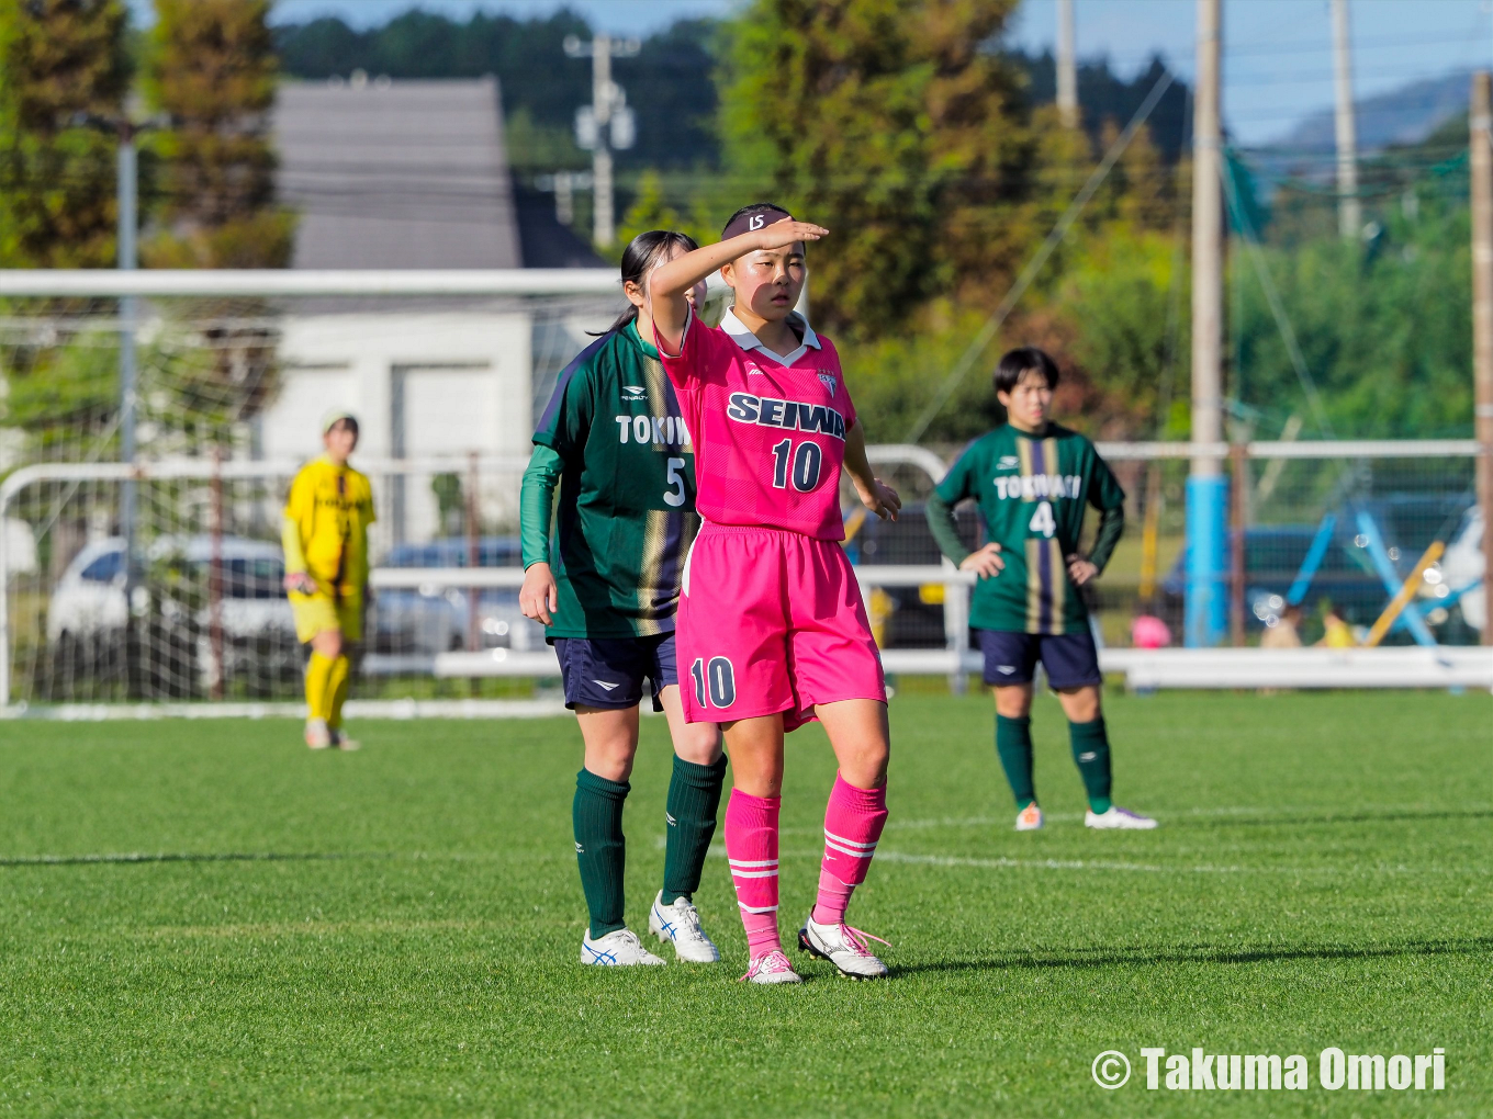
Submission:
[[[1469,155],[1472,164],[1472,379],[1483,513],[1483,645],[1493,645],[1493,79],[1472,75]]]

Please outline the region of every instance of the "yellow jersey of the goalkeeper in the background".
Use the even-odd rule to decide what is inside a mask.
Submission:
[[[369,577],[369,525],[375,521],[367,476],[325,455],[312,460],[290,483],[285,521],[296,527],[300,557],[285,542],[287,570],[305,571],[324,591],[361,594]]]

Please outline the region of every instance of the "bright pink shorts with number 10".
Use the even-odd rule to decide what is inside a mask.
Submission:
[[[684,567],[676,640],[690,722],[782,712],[791,731],[817,703],[887,701],[855,571],[833,540],[706,522]]]

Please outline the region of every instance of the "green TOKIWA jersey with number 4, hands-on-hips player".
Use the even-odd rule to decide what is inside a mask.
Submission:
[[[969,624],[1009,633],[1084,633],[1088,607],[1067,577],[1084,509],[1117,509],[1124,491],[1076,431],[1048,424],[1029,436],[1009,424],[976,439],[938,483],[950,506],[973,498],[1005,568],[975,585]]]

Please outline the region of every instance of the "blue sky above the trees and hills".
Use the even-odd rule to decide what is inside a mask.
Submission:
[[[564,0],[593,24],[646,34],[691,15],[726,15],[739,0]],[[148,7],[148,0],[133,0]],[[339,15],[360,27],[415,6],[412,0],[278,0],[276,21]],[[433,12],[476,9],[543,15],[560,0],[421,0]],[[1108,55],[1130,73],[1160,52],[1193,69],[1194,0],[1076,0],[1078,52]],[[1051,46],[1056,0],[1024,0],[1014,39]],[[1493,66],[1493,0],[1353,0],[1354,90],[1360,97],[1417,78]],[[1224,0],[1224,115],[1247,145],[1269,143],[1302,116],[1332,106],[1327,0]]]

